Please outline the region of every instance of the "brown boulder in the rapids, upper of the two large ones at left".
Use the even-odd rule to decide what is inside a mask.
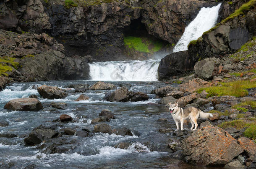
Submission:
[[[37,88],[37,91],[43,98],[55,99],[64,98],[66,96],[65,90],[56,86],[42,85]]]

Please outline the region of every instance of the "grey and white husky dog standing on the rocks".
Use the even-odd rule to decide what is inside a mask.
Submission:
[[[172,117],[175,121],[175,124],[177,126],[177,130],[179,129],[179,123],[178,123],[178,120],[180,121],[180,128],[181,130],[183,130],[183,122],[185,119],[189,119],[190,122],[191,122],[191,130],[195,127],[195,129],[193,130],[196,130],[196,127],[198,126],[197,124],[197,119],[199,118],[199,116],[202,118],[202,119],[208,119],[209,117],[213,117],[212,114],[210,113],[204,113],[203,111],[201,111],[200,109],[198,108],[195,108],[195,107],[188,107],[188,108],[181,108],[181,107],[178,107],[179,103],[175,103],[175,104],[172,104],[172,103],[169,103],[167,104],[169,106],[169,110],[170,110],[170,113],[172,114]]]

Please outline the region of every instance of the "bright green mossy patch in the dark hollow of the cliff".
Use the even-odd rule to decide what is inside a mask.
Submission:
[[[159,40],[151,40],[145,37],[125,36],[125,46],[133,48],[139,52],[153,53],[157,52],[163,47],[163,43]]]

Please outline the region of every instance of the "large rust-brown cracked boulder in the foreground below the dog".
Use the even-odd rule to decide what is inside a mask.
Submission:
[[[208,121],[181,143],[185,160],[197,165],[224,166],[243,152],[236,139]]]

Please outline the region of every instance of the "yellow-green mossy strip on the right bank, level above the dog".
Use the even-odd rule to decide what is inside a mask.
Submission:
[[[248,95],[248,88],[255,88],[256,82],[248,81],[232,81],[227,83],[221,83],[222,86],[211,86],[207,88],[200,88],[197,92],[201,93],[202,91],[206,91],[209,93],[207,97],[211,96],[236,96],[243,97]]]

